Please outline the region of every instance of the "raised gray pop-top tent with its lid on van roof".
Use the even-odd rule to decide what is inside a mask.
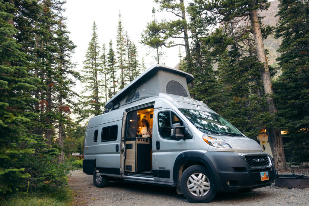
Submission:
[[[190,97],[187,84],[193,75],[179,69],[156,64],[139,75],[105,104],[105,108],[120,107],[160,93]]]

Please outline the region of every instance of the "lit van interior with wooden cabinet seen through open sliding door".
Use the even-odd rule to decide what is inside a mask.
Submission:
[[[154,108],[147,107],[130,111],[127,114],[125,130],[125,173],[152,174],[152,137],[142,137],[141,120],[147,118],[153,128]]]

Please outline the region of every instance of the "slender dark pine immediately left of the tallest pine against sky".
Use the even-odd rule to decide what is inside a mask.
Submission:
[[[112,40],[109,42],[109,50],[108,50],[108,74],[109,74],[109,81],[112,83],[111,86],[111,94],[109,93],[108,98],[111,98],[112,96],[116,95],[116,83],[117,83],[117,78],[116,78],[116,55],[115,52],[112,48]]]

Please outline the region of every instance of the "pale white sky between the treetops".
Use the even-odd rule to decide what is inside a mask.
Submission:
[[[133,42],[138,47],[138,60],[142,63],[142,55],[145,58],[145,65],[148,69],[151,65],[156,64],[155,51],[148,56],[146,53],[151,51],[150,48],[139,43],[142,31],[146,29],[146,23],[153,20],[152,7],[158,8],[158,5],[152,0],[67,0],[64,6],[67,17],[67,28],[70,31],[70,38],[77,45],[73,62],[77,62],[77,69],[83,67],[85,60],[85,51],[88,42],[91,40],[92,23],[95,21],[98,27],[98,39],[100,47],[105,43],[108,50],[108,43],[112,39],[113,48],[116,50],[117,25],[119,21],[119,11],[121,12],[122,26]],[[156,12],[156,19],[173,17],[167,12]],[[181,48],[184,56],[184,48]],[[179,48],[164,48],[166,53],[164,63],[166,66],[175,67],[179,62]],[[80,84],[77,83],[75,90],[80,91]]]

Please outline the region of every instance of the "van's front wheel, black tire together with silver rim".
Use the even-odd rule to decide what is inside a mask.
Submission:
[[[207,203],[217,193],[208,170],[201,165],[190,166],[184,171],[180,179],[180,188],[184,196],[192,203]]]

